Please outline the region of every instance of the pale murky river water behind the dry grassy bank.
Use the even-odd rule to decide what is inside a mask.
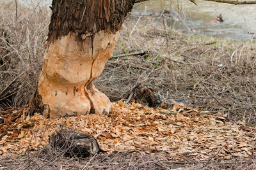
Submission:
[[[0,0],[15,1],[15,0]],[[20,4],[35,8],[48,8],[51,0],[17,0]],[[135,14],[140,14],[141,10],[147,6],[147,13],[154,15],[161,14],[164,10],[167,24],[180,31],[204,34],[228,40],[248,40],[256,36],[256,4],[233,5],[224,3],[214,3],[209,1],[196,1],[198,6],[189,0],[153,0],[146,3],[135,4]],[[49,9],[49,8],[48,8]],[[223,16],[224,22],[210,23],[216,16]],[[161,23],[162,22],[162,23]],[[156,24],[163,24],[162,19],[156,18]]]

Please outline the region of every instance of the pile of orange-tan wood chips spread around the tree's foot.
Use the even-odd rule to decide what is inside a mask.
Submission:
[[[12,127],[1,127],[0,154],[40,150],[48,145],[49,136],[61,129],[91,134],[108,153],[164,151],[177,161],[246,159],[256,153],[255,127],[246,127],[244,122],[226,122],[221,113],[202,113],[198,108],[173,104],[173,108],[164,110],[120,101],[112,103],[109,115],[58,119],[39,114],[25,118],[23,111]]]

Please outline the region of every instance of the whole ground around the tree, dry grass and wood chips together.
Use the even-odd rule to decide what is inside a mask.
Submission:
[[[95,81],[111,113],[53,121],[19,108],[36,89],[50,14],[20,7],[16,20],[13,4],[0,8],[0,169],[256,169],[253,38],[190,35],[168,16],[130,15]],[[63,127],[92,134],[107,153],[45,149]]]

